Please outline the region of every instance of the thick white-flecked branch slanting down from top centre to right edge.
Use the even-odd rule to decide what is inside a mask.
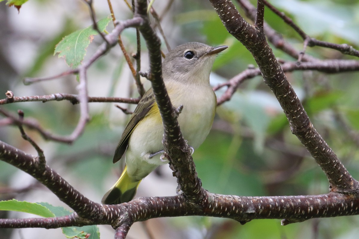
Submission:
[[[236,37],[255,58],[264,82],[277,97],[289,121],[290,129],[308,149],[325,172],[332,192],[355,192],[356,181],[312,125],[302,103],[286,79],[265,35],[257,32],[238,13],[231,1],[210,0],[228,32]],[[227,14],[224,14],[227,13]]]

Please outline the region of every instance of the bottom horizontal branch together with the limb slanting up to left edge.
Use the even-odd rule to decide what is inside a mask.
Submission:
[[[194,204],[184,196],[146,197],[120,205],[96,204],[70,186],[51,168],[38,167],[38,159],[0,141],[0,159],[29,173],[47,186],[60,200],[73,208],[76,215],[60,218],[57,226],[111,224],[131,225],[135,221],[167,216],[215,216],[231,218],[242,223],[252,219],[283,219],[284,224],[310,218],[344,216],[359,214],[359,199],[353,195],[328,193],[316,196],[274,196],[243,197],[217,195],[205,191],[205,199]],[[9,221],[0,219],[0,227],[11,227]],[[18,226],[36,226],[55,228],[52,219],[36,219],[37,223],[27,219],[17,219]],[[68,221],[70,220],[70,221]],[[28,224],[30,223],[30,224]]]

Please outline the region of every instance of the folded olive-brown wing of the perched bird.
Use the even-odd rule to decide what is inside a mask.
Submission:
[[[154,102],[155,96],[153,94],[152,88],[150,88],[141,98],[130,118],[129,123],[126,125],[126,128],[122,133],[120,142],[118,143],[115,151],[115,155],[113,156],[113,163],[116,163],[122,158],[123,153],[125,153],[127,146],[129,145],[129,139],[133,130],[136,128],[137,123],[148,114]]]

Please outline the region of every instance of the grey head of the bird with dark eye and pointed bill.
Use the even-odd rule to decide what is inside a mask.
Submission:
[[[226,48],[199,42],[182,44],[166,55],[162,63],[163,79],[208,83],[216,54]]]

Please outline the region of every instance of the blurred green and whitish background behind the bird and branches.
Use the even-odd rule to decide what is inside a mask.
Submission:
[[[216,59],[211,83],[215,86],[255,64],[241,43],[223,27],[206,0],[155,1],[154,8],[164,15],[162,28],[172,48],[185,42],[203,42],[229,48]],[[256,4],[256,1],[252,1]],[[333,43],[348,43],[358,48],[359,1],[288,0],[270,1],[293,18],[312,37]],[[123,1],[113,1],[118,20],[131,18]],[[97,20],[107,17],[107,1],[95,0]],[[239,7],[237,7],[239,9]],[[243,14],[243,12],[240,10]],[[164,13],[164,14],[163,14]],[[265,20],[293,44],[298,51],[302,40],[288,25],[265,12]],[[26,77],[52,76],[68,70],[63,58],[53,56],[55,45],[75,30],[91,25],[88,6],[80,0],[30,0],[18,13],[0,3],[0,98],[11,90],[15,96],[77,94],[75,76],[24,86]],[[112,23],[107,27],[113,29]],[[126,29],[122,40],[127,51],[136,51],[134,29]],[[93,54],[102,40],[95,37],[87,50]],[[142,44],[142,66],[146,71],[147,54]],[[273,49],[277,58],[295,61]],[[163,51],[167,49],[163,44]],[[330,59],[345,58],[334,50],[314,47],[307,54]],[[327,75],[315,71],[287,73],[288,80],[312,120],[313,125],[336,152],[349,172],[359,179],[359,73]],[[137,97],[134,80],[120,48],[116,46],[88,71],[90,96]],[[148,89],[149,82],[145,83]],[[224,88],[223,88],[224,90]],[[217,96],[223,90],[216,91]],[[134,109],[134,105],[120,104]],[[24,102],[1,106],[12,113],[22,109],[43,128],[56,134],[72,132],[79,106],[68,101]],[[25,131],[41,146],[50,167],[60,173],[89,199],[100,202],[103,194],[122,172],[121,163],[112,164],[112,155],[129,115],[114,103],[90,103],[91,121],[84,134],[72,145],[47,142],[37,132]],[[0,120],[3,116],[0,116]],[[0,127],[0,140],[27,153],[36,154],[21,137],[17,127]],[[203,187],[213,193],[242,196],[317,195],[328,192],[328,181],[299,140],[292,135],[288,121],[262,77],[244,82],[232,100],[217,109],[213,130],[193,154]],[[122,160],[121,160],[122,161]],[[176,195],[176,178],[168,165],[151,173],[140,184],[137,196]],[[9,189],[10,188],[10,189]],[[64,206],[47,188],[32,177],[0,161],[0,200],[15,198],[30,202],[49,202]],[[21,192],[18,192],[18,191]],[[1,218],[32,217],[0,212]],[[356,238],[358,216],[312,219],[280,226],[280,220],[253,220],[245,225],[229,219],[181,217],[151,219],[135,223],[127,238]],[[99,226],[102,238],[112,238],[110,226]],[[60,229],[0,229],[0,238],[64,238]]]

